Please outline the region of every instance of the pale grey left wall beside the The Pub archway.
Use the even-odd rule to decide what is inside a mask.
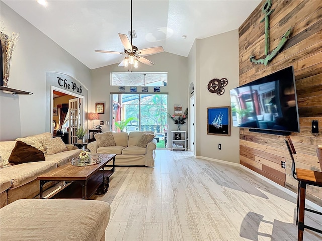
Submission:
[[[20,35],[12,56],[9,87],[34,93],[13,96],[0,91],[0,140],[5,141],[39,134],[49,127],[46,116],[51,109],[46,95],[50,90],[46,88],[46,71],[72,76],[89,90],[91,72],[3,2],[0,2],[0,15],[6,26],[4,32]]]

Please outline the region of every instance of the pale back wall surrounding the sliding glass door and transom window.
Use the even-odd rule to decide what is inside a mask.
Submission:
[[[169,113],[174,112],[175,104],[182,104],[183,111],[188,107],[187,89],[188,83],[188,65],[187,58],[170,53],[159,53],[146,57],[155,65],[147,66],[139,64],[137,72],[168,72],[168,85],[160,88],[160,93],[169,93]],[[120,59],[120,61],[122,58]],[[89,112],[95,111],[95,103],[105,103],[105,113],[100,114],[100,119],[104,120],[103,132],[110,131],[106,126],[106,121],[110,120],[110,93],[118,93],[117,86],[110,85],[111,72],[126,72],[125,67],[118,67],[118,64],[109,65],[92,70],[92,105],[89,106]],[[134,72],[134,71],[133,71]],[[149,88],[149,91],[152,88]],[[126,88],[129,92],[129,88]],[[152,90],[153,91],[153,90]],[[138,88],[139,92],[139,88]],[[95,94],[94,94],[95,93]],[[169,130],[176,131],[177,125],[170,119]],[[188,131],[188,123],[181,126],[182,131]]]

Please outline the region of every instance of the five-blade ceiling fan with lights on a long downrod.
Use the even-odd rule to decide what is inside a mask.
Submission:
[[[133,39],[132,34],[133,34],[133,31],[132,31],[132,0],[131,0],[131,32],[130,32],[131,42],[129,41],[126,34],[119,33],[119,37],[120,37],[121,42],[124,46],[124,52],[107,51],[107,50],[95,50],[95,52],[107,53],[107,54],[127,55],[118,66],[128,67],[129,64],[131,64],[131,65],[133,65],[134,68],[137,68],[139,66],[138,62],[141,62],[143,64],[147,64],[150,66],[154,65],[154,63],[152,63],[148,59],[142,57],[141,55],[149,55],[149,54],[156,54],[156,53],[164,52],[163,47],[158,46],[158,47],[151,47],[151,48],[139,50],[136,46],[132,45],[132,39]]]

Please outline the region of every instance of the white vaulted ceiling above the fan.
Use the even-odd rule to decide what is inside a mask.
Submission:
[[[130,31],[130,0],[52,0],[46,7],[36,0],[2,1],[90,69],[123,59],[94,50],[124,51],[118,33]],[[133,45],[163,46],[166,52],[187,57],[195,39],[239,28],[260,2],[133,0]]]

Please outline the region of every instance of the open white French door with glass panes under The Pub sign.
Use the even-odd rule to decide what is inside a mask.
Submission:
[[[69,138],[68,144],[77,143],[77,128],[84,125],[83,99],[69,99]]]

